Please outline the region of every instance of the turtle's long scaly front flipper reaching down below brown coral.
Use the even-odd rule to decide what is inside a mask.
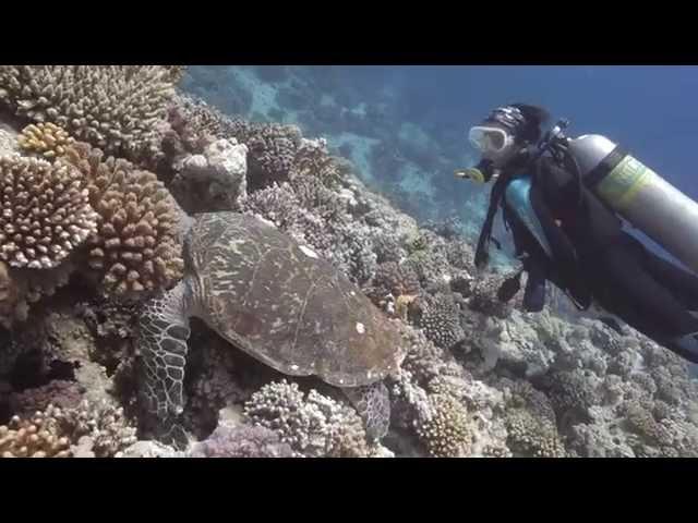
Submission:
[[[140,406],[144,427],[163,442],[178,442],[177,417],[184,408],[182,386],[190,336],[185,284],[145,303],[139,318],[136,352],[141,356]],[[180,442],[183,445],[183,442]]]

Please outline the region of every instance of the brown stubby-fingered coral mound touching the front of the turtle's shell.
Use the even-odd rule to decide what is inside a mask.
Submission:
[[[88,181],[97,231],[89,236],[88,265],[115,295],[170,285],[181,278],[177,203],[157,177],[84,143],[67,150],[58,165],[80,169]]]

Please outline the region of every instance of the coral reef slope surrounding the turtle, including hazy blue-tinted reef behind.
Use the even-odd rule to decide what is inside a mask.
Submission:
[[[270,120],[293,118],[282,114],[288,108],[264,109],[249,85],[219,85],[216,96],[230,97],[225,110],[261,111],[267,123],[174,93],[180,80],[192,82],[178,65],[0,66],[0,105],[13,125],[33,122],[19,135],[0,125],[0,325],[12,328],[0,329],[0,411],[10,419],[0,453],[698,455],[698,386],[685,362],[630,328],[575,311],[555,290],[538,314],[521,311],[520,296],[501,303],[497,290],[514,267],[473,267],[481,202],[468,194],[462,206],[459,192],[446,194],[452,184],[433,174],[449,162],[426,154],[429,136],[409,124],[388,136],[389,107],[361,105],[359,92],[328,73],[316,80],[337,92],[322,100],[310,99],[312,85],[291,70],[282,75],[286,94],[275,101],[298,104],[299,119],[377,138],[366,147],[342,138],[338,147],[360,169],[373,160],[371,182],[325,138],[268,123],[274,111]],[[414,172],[429,174],[434,193],[400,184]],[[425,222],[368,188],[388,181],[393,199]],[[452,199],[458,216],[448,216]],[[136,440],[139,308],[120,299],[181,276],[189,219],[180,206],[275,223],[400,318],[408,352],[386,379],[387,448],[369,446],[336,389],[282,379],[196,320],[182,425],[198,441],[179,452]]]

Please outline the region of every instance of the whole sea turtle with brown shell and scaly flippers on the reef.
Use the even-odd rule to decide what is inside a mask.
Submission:
[[[385,436],[390,408],[383,378],[404,357],[401,337],[341,271],[272,223],[232,211],[194,217],[184,264],[182,281],[146,302],[139,319],[141,400],[159,439],[183,435],[173,419],[183,408],[191,316],[284,374],[340,388],[366,436]]]

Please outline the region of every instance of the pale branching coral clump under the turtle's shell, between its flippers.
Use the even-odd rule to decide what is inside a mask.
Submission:
[[[264,386],[244,405],[255,425],[276,431],[305,457],[365,457],[369,449],[361,418],[351,408],[285,379]]]

